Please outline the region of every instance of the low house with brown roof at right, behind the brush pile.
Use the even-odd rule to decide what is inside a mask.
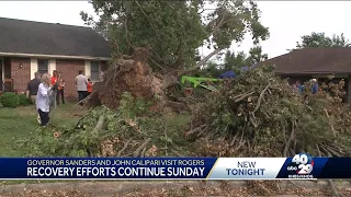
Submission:
[[[288,78],[290,82],[317,78],[326,81],[328,76],[346,81],[347,102],[351,102],[351,48],[303,48],[269,59],[265,63],[275,65],[276,74]]]

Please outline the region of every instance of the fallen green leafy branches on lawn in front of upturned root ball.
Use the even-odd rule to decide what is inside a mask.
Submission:
[[[177,142],[174,139],[171,140],[171,137],[178,134],[176,130],[179,128],[171,128],[169,136],[165,136],[168,131],[165,118],[150,114],[136,116],[148,113],[147,106],[148,102],[134,99],[126,92],[122,96],[118,111],[99,106],[90,111],[75,128],[38,128],[23,141],[22,147],[32,157],[106,157],[106,148],[103,144],[110,141],[114,141],[116,146],[112,151],[122,149],[132,138],[135,141],[131,142],[131,146],[139,146],[139,142],[148,137],[152,137],[150,144]],[[100,116],[104,116],[104,124],[101,130],[95,131],[94,127]],[[134,151],[134,148],[126,151]]]

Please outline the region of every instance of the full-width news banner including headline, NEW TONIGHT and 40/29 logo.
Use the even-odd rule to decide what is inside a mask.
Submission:
[[[2,158],[0,179],[351,178],[351,158]]]

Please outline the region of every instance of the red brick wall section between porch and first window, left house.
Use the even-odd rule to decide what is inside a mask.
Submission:
[[[13,79],[13,89],[16,93],[26,91],[26,85],[31,80],[31,59],[11,58],[11,78]],[[22,63],[22,68],[20,65]]]

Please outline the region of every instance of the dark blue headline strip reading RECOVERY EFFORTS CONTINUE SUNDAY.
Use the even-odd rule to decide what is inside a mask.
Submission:
[[[0,159],[0,179],[204,179],[213,158]]]

